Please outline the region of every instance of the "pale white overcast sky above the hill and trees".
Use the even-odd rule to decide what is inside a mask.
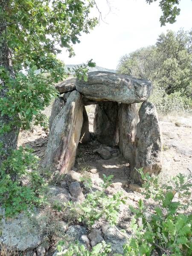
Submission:
[[[96,0],[102,20],[89,34],[82,33],[80,43],[74,45],[76,56],[69,58],[65,49],[58,57],[65,64],[81,64],[93,59],[97,66],[116,69],[119,59],[141,47],[156,43],[158,35],[167,29],[178,31],[192,27],[192,0],[181,0],[180,15],[173,24],[160,26],[159,1],[150,5],[145,0]],[[99,17],[94,8],[92,16]]]

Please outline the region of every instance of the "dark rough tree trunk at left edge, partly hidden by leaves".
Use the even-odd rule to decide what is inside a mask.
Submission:
[[[4,12],[6,12],[6,8],[8,5],[8,0],[0,0],[0,6]],[[6,41],[6,20],[3,15],[0,15],[0,67],[5,68],[9,71],[10,76],[14,78],[14,72],[12,68],[12,61],[11,61],[11,51],[7,45]],[[5,33],[5,34],[4,34]],[[3,81],[2,77],[0,77],[0,98],[7,97],[8,87],[6,86],[6,81]],[[1,109],[0,109],[1,113]],[[0,114],[0,128],[4,125],[11,126],[11,130],[6,133],[0,133],[0,143],[3,146],[3,155],[0,154],[0,163],[9,155],[11,149],[17,148],[17,138],[19,129],[16,125],[12,125],[13,120],[18,119],[18,115],[9,117],[7,115],[1,116]]]

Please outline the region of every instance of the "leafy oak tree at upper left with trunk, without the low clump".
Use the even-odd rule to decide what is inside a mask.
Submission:
[[[41,110],[65,76],[59,47],[72,56],[89,18],[92,0],[0,0],[0,160],[17,147],[20,128],[42,123]]]

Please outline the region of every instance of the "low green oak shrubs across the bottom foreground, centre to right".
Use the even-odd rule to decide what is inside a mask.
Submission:
[[[138,202],[138,208],[130,206],[134,213],[131,221],[133,235],[131,239],[128,239],[124,233],[128,242],[124,244],[123,255],[151,256],[156,251],[159,256],[190,256],[192,251],[192,214],[187,213],[186,209],[192,203],[190,198],[192,176],[185,177],[179,174],[163,184],[160,183],[159,177],[144,175],[143,169],[138,171],[143,179],[145,199],[150,198],[150,203],[153,200],[157,207],[149,216],[141,199]],[[120,201],[118,199],[116,205],[116,197],[107,198],[104,193],[106,187],[111,184],[111,178],[104,176],[105,182],[102,184],[102,192],[98,194],[98,191],[90,191],[84,204],[78,206],[86,223],[92,225],[95,220],[101,217],[101,214],[106,214],[105,218],[109,223],[116,224]],[[90,187],[89,180],[87,186]],[[111,202],[110,207],[108,207],[108,203],[103,204],[106,201]],[[113,214],[115,215],[114,220]],[[123,235],[121,231],[119,232]],[[67,246],[62,241],[58,243],[57,250],[57,256],[107,256],[111,252],[110,245],[105,243],[97,244],[89,251],[79,243]],[[114,255],[122,256],[120,254]]]

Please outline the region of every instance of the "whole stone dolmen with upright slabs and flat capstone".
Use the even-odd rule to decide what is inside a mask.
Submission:
[[[97,71],[89,72],[87,81],[72,78],[56,88],[60,94],[49,119],[45,168],[57,168],[60,174],[72,169],[79,142],[90,140],[85,106],[96,104],[94,134],[102,144],[119,145],[130,164],[131,179],[140,182],[136,169],[142,167],[150,175],[161,171],[160,126],[154,104],[147,101],[151,81]]]

